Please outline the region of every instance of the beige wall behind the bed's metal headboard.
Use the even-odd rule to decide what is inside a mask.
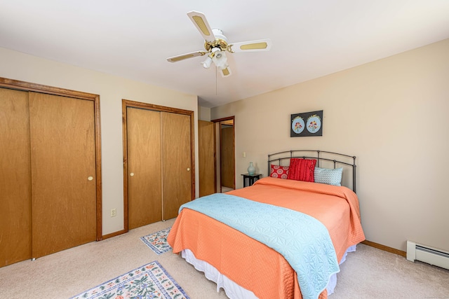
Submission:
[[[448,53],[444,40],[211,109],[213,119],[235,116],[236,178],[250,161],[266,176],[267,154],[277,151],[356,155],[366,238],[449,251]],[[290,114],[316,110],[323,137],[290,138]]]

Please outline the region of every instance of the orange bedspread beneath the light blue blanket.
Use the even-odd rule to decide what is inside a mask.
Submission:
[[[365,239],[358,198],[349,188],[263,178],[229,194],[287,207],[318,219],[328,228],[338,260]],[[168,235],[173,252],[190,249],[258,298],[302,298],[297,274],[273,249],[234,228],[191,209],[183,209]],[[320,298],[327,298],[326,290]]]

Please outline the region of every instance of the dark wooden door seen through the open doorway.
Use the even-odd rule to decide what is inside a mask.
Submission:
[[[234,127],[222,128],[221,149],[222,186],[235,189]]]

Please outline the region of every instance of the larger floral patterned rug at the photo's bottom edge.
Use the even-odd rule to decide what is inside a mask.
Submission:
[[[154,260],[152,263],[106,281],[71,299],[189,299],[175,279]]]

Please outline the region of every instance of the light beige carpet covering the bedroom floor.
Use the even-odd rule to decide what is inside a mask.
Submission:
[[[173,222],[153,223],[101,242],[1,267],[0,298],[70,298],[153,260],[161,263],[190,298],[227,298],[180,256],[171,251],[158,256],[140,239]],[[411,263],[363,244],[349,253],[337,277],[330,299],[449,298],[449,270]]]

